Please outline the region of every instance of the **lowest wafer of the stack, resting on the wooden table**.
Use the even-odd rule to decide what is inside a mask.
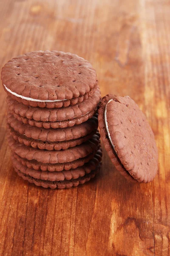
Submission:
[[[72,179],[72,180],[62,180],[62,181],[48,181],[48,180],[38,180],[35,179],[29,175],[23,174],[20,172],[17,168],[14,168],[15,172],[22,177],[24,180],[27,180],[30,183],[34,183],[37,186],[42,186],[43,188],[51,188],[51,189],[65,189],[65,188],[71,188],[72,186],[78,186],[79,184],[84,184],[85,182],[91,180],[96,176],[96,174],[99,172],[100,164],[99,166],[89,174],[86,174],[83,177],[79,177],[78,179]]]

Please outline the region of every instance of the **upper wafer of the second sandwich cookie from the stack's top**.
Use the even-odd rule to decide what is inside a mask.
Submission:
[[[42,122],[71,121],[93,111],[101,99],[100,90],[97,88],[94,94],[87,100],[66,108],[39,108],[23,105],[7,97],[8,109],[17,115]]]

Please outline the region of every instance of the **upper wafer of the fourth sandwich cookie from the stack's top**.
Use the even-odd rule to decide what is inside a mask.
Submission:
[[[8,137],[8,144],[13,152],[28,160],[36,160],[40,163],[67,163],[86,157],[88,154],[95,151],[99,145],[99,133],[95,134],[91,140],[81,145],[57,151],[28,147],[14,140],[11,135]]]

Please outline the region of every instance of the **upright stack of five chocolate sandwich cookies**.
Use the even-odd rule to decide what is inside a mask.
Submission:
[[[97,130],[101,96],[91,64],[71,53],[30,52],[8,61],[1,79],[18,175],[60,189],[94,177],[102,158]]]

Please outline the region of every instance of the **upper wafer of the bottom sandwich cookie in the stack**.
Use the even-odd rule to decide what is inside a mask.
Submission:
[[[94,171],[101,161],[101,157],[94,157],[88,163],[85,163],[82,167],[76,169],[71,169],[69,171],[61,172],[43,172],[41,170],[29,169],[23,166],[22,163],[17,161],[14,156],[11,156],[13,166],[20,170],[23,174],[29,175],[35,179],[49,180],[49,181],[61,181],[61,180],[71,180],[83,177],[85,174]]]

